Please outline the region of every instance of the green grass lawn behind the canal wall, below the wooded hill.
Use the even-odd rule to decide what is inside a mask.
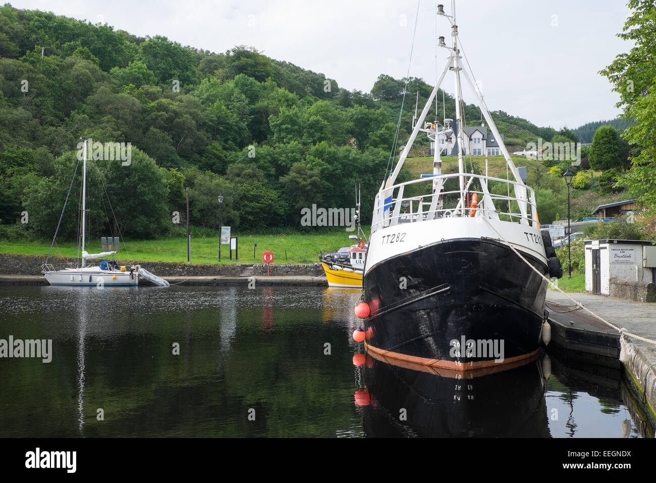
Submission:
[[[318,262],[319,250],[336,251],[341,246],[348,246],[354,242],[348,239],[355,235],[355,231],[326,231],[322,233],[277,235],[238,235],[239,260],[235,261],[233,251],[229,260],[229,245],[221,246],[221,264],[261,264],[262,252],[274,252],[276,264],[308,264]],[[368,233],[368,227],[364,230]],[[253,258],[253,244],[256,243],[255,258]],[[66,258],[75,258],[75,242],[59,243],[59,248],[52,248],[52,257],[60,258],[60,253]],[[128,252],[125,251],[127,246]],[[38,242],[2,242],[0,252],[24,255],[47,255],[50,241]],[[60,251],[61,250],[61,251]],[[87,252],[100,252],[100,240],[87,244]],[[287,256],[285,257],[285,252]],[[129,256],[128,256],[129,253]],[[121,251],[115,255],[117,260],[138,260],[144,262],[186,262],[186,238],[171,238],[160,240],[128,240],[121,244]],[[218,237],[192,237],[193,264],[218,263]]]

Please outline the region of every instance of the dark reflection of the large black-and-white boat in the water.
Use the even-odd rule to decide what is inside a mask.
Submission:
[[[550,437],[543,361],[478,371],[394,365],[356,354],[356,391],[369,437]],[[545,361],[547,362],[547,361]],[[548,363],[545,364],[548,366]],[[548,369],[546,369],[548,371]]]

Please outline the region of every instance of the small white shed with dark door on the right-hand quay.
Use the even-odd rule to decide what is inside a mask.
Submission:
[[[641,287],[651,283],[650,290],[653,290],[656,281],[655,241],[585,240],[584,244],[586,292],[611,295],[611,279]]]

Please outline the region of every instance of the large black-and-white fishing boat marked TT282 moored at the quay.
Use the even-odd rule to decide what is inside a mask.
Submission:
[[[374,354],[469,371],[537,354],[548,277],[562,276],[562,265],[548,231],[540,230],[535,193],[512,162],[469,64],[463,62],[455,1],[451,15],[443,5],[437,13],[449,21],[451,46],[438,38],[438,48],[448,51],[443,70],[375,197],[363,275],[361,303],[368,305],[363,329],[365,347]],[[441,126],[426,122],[449,72],[456,119],[443,120]],[[474,173],[471,165],[468,172],[461,82],[476,96],[498,141],[508,179],[488,175],[487,156],[484,174]],[[421,131],[434,140],[433,172],[396,183]],[[440,145],[452,137],[458,172],[444,174]],[[414,214],[409,222],[401,212],[404,207]]]

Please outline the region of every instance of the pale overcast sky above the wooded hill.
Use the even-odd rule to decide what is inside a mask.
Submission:
[[[436,5],[420,0],[410,75],[436,81]],[[450,0],[441,1],[447,13]],[[131,34],[165,35],[216,53],[251,45],[269,57],[321,72],[340,87],[369,92],[379,74],[405,76],[417,0],[14,0]],[[578,127],[619,114],[619,96],[597,72],[632,45],[615,35],[625,0],[459,0],[457,23],[491,110],[538,126]],[[449,43],[440,18],[438,35]],[[440,70],[445,51],[438,52]],[[463,89],[466,87],[463,85]],[[445,84],[453,92],[453,78]],[[474,102],[468,91],[465,100]]]

